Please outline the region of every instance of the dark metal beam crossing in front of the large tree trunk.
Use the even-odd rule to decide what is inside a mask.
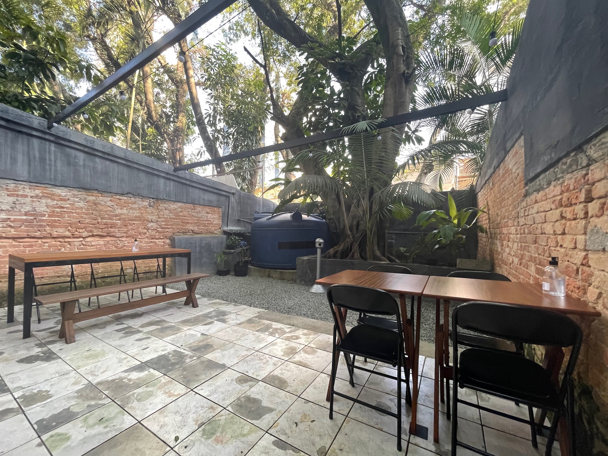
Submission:
[[[420,109],[420,111],[406,112],[406,114],[399,114],[398,116],[389,117],[384,122],[378,125],[378,129],[386,128],[387,126],[402,125],[408,122],[415,122],[416,120],[429,119],[430,117],[444,116],[446,114],[452,114],[452,112],[464,111],[465,109],[477,108],[477,106],[493,105],[494,103],[504,102],[508,94],[505,90],[491,92],[485,95],[479,95],[478,97],[462,98],[451,103],[445,103],[440,106],[433,106],[432,108]],[[247,150],[236,154],[229,154],[223,157],[217,157],[209,160],[203,160],[200,162],[188,163],[187,165],[176,166],[173,168],[174,172],[192,170],[192,168],[198,168],[206,165],[218,165],[223,162],[230,162],[241,158],[253,157],[269,152],[276,152],[279,150],[291,149],[294,147],[301,147],[315,142],[328,141],[330,139],[337,139],[344,136],[349,136],[352,133],[344,133],[344,128],[338,130],[326,131],[325,133],[313,134],[312,136],[306,136],[291,141],[281,142],[270,146],[260,147],[253,150]]]

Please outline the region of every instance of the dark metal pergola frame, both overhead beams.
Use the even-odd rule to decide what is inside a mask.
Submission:
[[[142,50],[134,58],[128,61],[125,65],[120,67],[116,72],[109,75],[105,80],[94,86],[85,95],[78,98],[74,103],[67,106],[55,117],[50,119],[47,123],[47,128],[50,130],[54,127],[54,124],[58,124],[66,120],[67,118],[74,116],[81,109],[85,108],[89,103],[94,102],[97,98],[108,92],[113,87],[119,85],[122,81],[132,75],[134,72],[142,68],[145,64],[150,63],[156,57],[161,55],[165,50],[169,49],[174,44],[179,43],[190,33],[197,30],[210,19],[219,15],[221,12],[226,10],[230,5],[234,4],[236,0],[208,0],[202,4],[195,12],[179,22],[173,29],[165,33],[159,40],[154,41],[146,49]],[[508,92],[505,90],[490,92],[488,94],[479,95],[477,97],[461,98],[455,102],[445,103],[439,106],[433,106],[432,108],[421,109],[420,111],[406,112],[405,114],[399,114],[398,116],[389,117],[388,119],[382,120],[377,126],[378,130],[381,128],[387,128],[389,126],[403,125],[404,123],[415,122],[416,120],[429,119],[430,117],[444,116],[446,114],[452,114],[458,111],[464,111],[465,109],[474,109],[478,106],[492,105],[494,103],[500,103],[506,101],[508,98]],[[193,168],[198,168],[206,165],[219,165],[223,162],[229,162],[233,160],[243,159],[247,157],[253,157],[269,152],[275,152],[280,150],[286,150],[295,147],[302,147],[308,144],[328,141],[331,139],[338,139],[340,137],[349,136],[352,133],[348,133],[347,128],[339,128],[337,130],[330,130],[324,133],[313,134],[299,139],[294,139],[287,142],[273,144],[265,147],[260,147],[244,152],[235,154],[229,154],[223,157],[216,157],[209,160],[203,160],[199,162],[189,163],[187,165],[176,166],[173,168],[174,172],[186,171]]]

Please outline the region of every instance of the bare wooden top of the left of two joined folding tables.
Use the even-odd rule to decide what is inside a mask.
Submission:
[[[395,274],[394,272],[375,271],[346,271],[320,278],[315,283],[319,285],[360,285],[369,288],[379,288],[390,293],[420,295],[429,280],[428,275]]]

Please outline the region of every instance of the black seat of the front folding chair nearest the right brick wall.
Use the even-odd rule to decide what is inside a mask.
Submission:
[[[458,384],[555,409],[558,392],[547,370],[510,353],[467,348],[458,362]]]

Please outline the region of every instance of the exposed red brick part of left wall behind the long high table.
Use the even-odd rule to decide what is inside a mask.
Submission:
[[[9,254],[124,249],[134,238],[142,248],[169,247],[174,235],[221,233],[221,216],[220,207],[0,179],[0,291],[5,294],[7,288]],[[141,266],[138,262],[137,269],[155,266],[156,261],[147,260]],[[95,274],[116,273],[117,267],[102,263]],[[88,286],[90,267],[75,266],[75,271]],[[69,266],[36,269],[34,274],[37,282],[52,282],[69,278]]]

